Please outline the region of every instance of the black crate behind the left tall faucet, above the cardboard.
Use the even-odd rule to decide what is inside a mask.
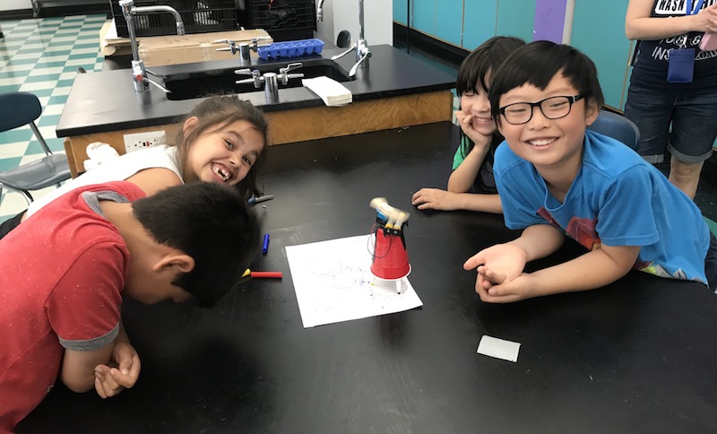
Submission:
[[[127,38],[127,22],[119,7],[119,0],[110,0],[112,15],[117,26],[117,36]],[[134,0],[134,5],[167,5],[177,10],[185,23],[186,33],[236,30],[236,0]],[[171,13],[138,13],[133,16],[134,34],[137,36],[161,36],[177,34],[177,22]]]

